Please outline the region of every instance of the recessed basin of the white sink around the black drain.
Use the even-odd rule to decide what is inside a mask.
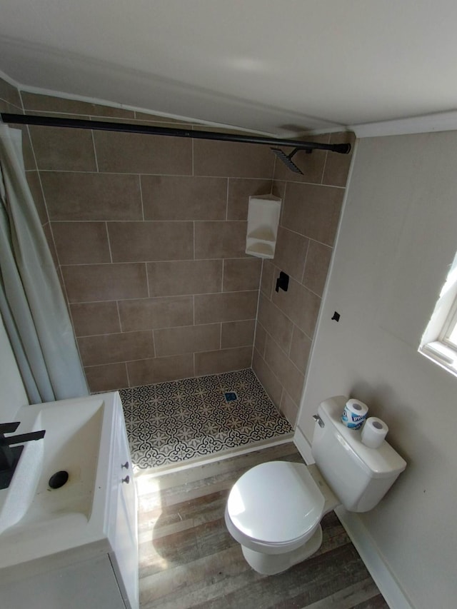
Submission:
[[[81,513],[89,520],[103,411],[103,401],[81,403],[77,408],[50,405],[39,411],[32,431],[44,429],[46,435],[26,443],[18,475],[6,489],[7,518],[0,515],[0,533],[19,520],[26,525],[65,513]],[[69,474],[68,481],[51,489],[49,479],[62,470]]]

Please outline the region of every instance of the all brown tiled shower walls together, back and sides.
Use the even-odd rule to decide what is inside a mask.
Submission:
[[[19,95],[0,80],[0,111],[23,108],[179,126]],[[298,153],[299,176],[275,164],[266,146],[22,130],[27,178],[92,391],[250,366],[255,332],[253,369],[295,423],[351,155]],[[261,261],[244,253],[248,196],[272,188],[283,198],[281,226],[276,256],[261,272]],[[291,277],[287,293],[274,291],[280,270]]]

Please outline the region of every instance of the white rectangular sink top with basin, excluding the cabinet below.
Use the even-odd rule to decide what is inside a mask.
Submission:
[[[17,433],[46,434],[25,443],[9,488],[0,490],[0,568],[103,536],[119,412],[117,393],[20,409]],[[51,488],[62,470],[68,480]]]

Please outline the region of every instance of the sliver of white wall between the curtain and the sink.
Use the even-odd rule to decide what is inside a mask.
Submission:
[[[27,394],[0,316],[0,423],[14,421],[16,412],[28,404]]]

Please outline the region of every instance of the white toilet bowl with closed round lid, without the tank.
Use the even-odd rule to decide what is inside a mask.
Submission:
[[[337,504],[317,468],[270,461],[248,470],[233,485],[226,526],[241,543],[248,564],[273,575],[318,550],[321,518]]]

